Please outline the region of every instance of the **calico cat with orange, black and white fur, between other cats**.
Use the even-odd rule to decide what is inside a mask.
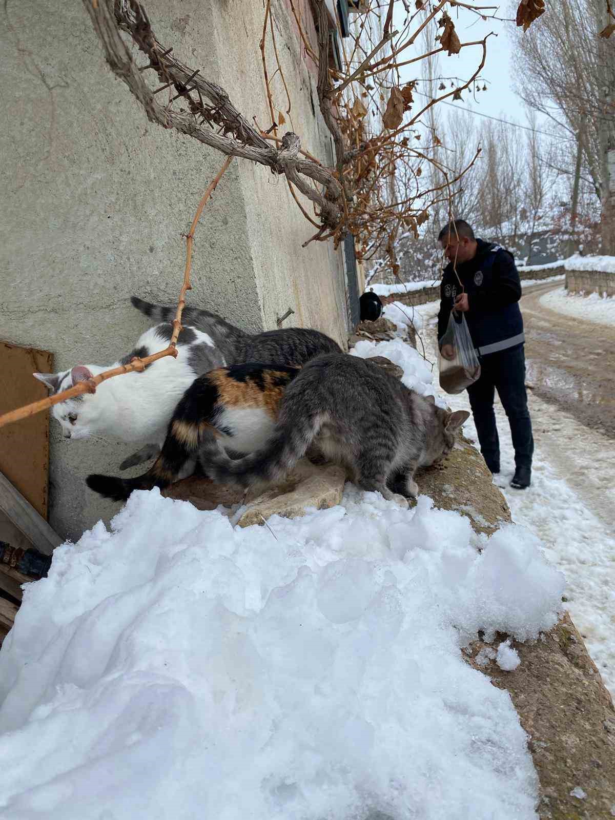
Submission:
[[[185,474],[207,438],[240,454],[264,447],[281,395],[298,372],[298,367],[251,362],[199,376],[175,408],[162,452],[148,472],[130,479],[91,475],[89,488],[115,501],[133,490],[162,490]]]

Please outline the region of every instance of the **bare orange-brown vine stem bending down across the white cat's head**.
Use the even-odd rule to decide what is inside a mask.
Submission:
[[[171,335],[169,346],[164,350],[159,350],[158,353],[152,353],[151,356],[146,356],[145,358],[135,357],[129,364],[124,364],[120,367],[113,367],[112,370],[103,371],[103,373],[99,373],[98,376],[93,376],[91,379],[80,381],[78,385],[75,385],[67,390],[62,390],[62,393],[57,393],[53,396],[48,396],[47,399],[40,399],[38,402],[26,404],[25,407],[11,410],[11,412],[7,412],[3,416],[0,416],[0,427],[5,426],[6,424],[11,424],[13,421],[20,421],[22,418],[34,416],[36,413],[43,412],[43,410],[47,410],[54,404],[64,402],[66,399],[72,399],[74,396],[79,396],[82,393],[96,393],[96,388],[98,385],[107,379],[111,379],[113,376],[121,376],[124,373],[132,373],[134,371],[141,373],[145,370],[145,367],[147,367],[148,364],[157,362],[158,359],[166,356],[172,356],[173,358],[177,357],[177,337],[180,335],[181,330],[181,314],[185,307],[185,294],[186,291],[191,289],[190,267],[192,266],[192,243],[194,239],[194,229],[196,228],[198,220],[203,212],[203,207],[205,207],[205,203],[207,203],[207,199],[211,197],[212,192],[216,189],[216,185],[220,182],[222,175],[228,166],[230,166],[232,160],[233,157],[226,157],[224,165],[216,175],[216,179],[207,186],[207,190],[205,191],[205,194],[203,194],[203,198],[200,203],[198,203],[197,212],[194,215],[194,220],[190,226],[189,234],[186,237],[184,284],[180,290],[180,300],[177,305],[177,311],[175,312],[175,319],[173,320],[173,334]]]

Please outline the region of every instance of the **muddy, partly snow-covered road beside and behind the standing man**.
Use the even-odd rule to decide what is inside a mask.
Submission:
[[[557,285],[556,285],[557,286]],[[568,608],[573,621],[585,638],[594,663],[599,667],[604,683],[615,695],[615,535],[613,534],[613,509],[615,508],[615,441],[613,440],[613,417],[610,435],[602,427],[592,429],[595,420],[602,417],[605,403],[594,402],[599,412],[592,413],[587,402],[585,386],[577,385],[568,396],[563,395],[556,380],[551,381],[553,371],[567,374],[572,379],[578,371],[582,385],[594,385],[599,390],[600,380],[615,384],[615,344],[608,342],[615,330],[608,326],[592,325],[592,335],[576,320],[548,313],[540,306],[539,298],[553,285],[532,288],[522,298],[522,311],[527,327],[527,352],[530,358],[528,380],[531,373],[533,389],[529,391],[530,412],[534,426],[535,458],[531,490],[511,490],[508,481],[512,477],[514,454],[510,441],[510,428],[503,408],[496,400],[496,417],[502,447],[502,473],[495,477],[511,508],[517,524],[527,526],[539,535],[545,545],[549,560],[565,572],[567,577]],[[428,347],[428,357],[437,361],[434,351],[435,312],[437,305],[431,303],[419,308],[426,320],[423,340]],[[564,333],[567,336],[564,337]],[[550,334],[550,336],[549,336]],[[561,335],[560,335],[561,334]],[[557,339],[544,351],[540,339]],[[610,372],[602,371],[598,362],[590,360],[585,376],[582,351],[590,350],[601,339],[603,349],[610,345]],[[563,352],[557,358],[552,348],[574,352],[577,361],[564,362]],[[598,346],[596,344],[596,346]],[[542,369],[541,369],[542,368]],[[542,374],[542,376],[538,376]],[[560,376],[563,378],[563,376]],[[434,379],[437,383],[437,377]],[[444,394],[445,395],[445,394]],[[467,393],[457,396],[445,395],[449,406],[455,410],[469,409]],[[545,401],[544,399],[549,399]],[[578,407],[583,404],[583,407]],[[585,404],[587,406],[585,407]],[[608,409],[605,415],[608,415]],[[610,410],[613,416],[613,408]],[[597,422],[598,423],[598,422]],[[476,440],[476,430],[471,421],[464,426],[464,433]]]

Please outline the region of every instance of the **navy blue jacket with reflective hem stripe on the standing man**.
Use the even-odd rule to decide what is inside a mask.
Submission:
[[[467,327],[475,348],[484,356],[523,343],[523,319],[518,304],[521,282],[512,253],[493,242],[476,242],[476,256],[458,264],[457,273],[467,293]],[[449,262],[440,284],[438,339],[449,326],[450,312],[460,293],[462,289]]]

